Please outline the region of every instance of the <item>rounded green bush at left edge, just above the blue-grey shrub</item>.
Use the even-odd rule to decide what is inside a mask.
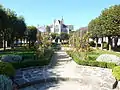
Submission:
[[[0,62],[0,74],[11,77],[15,75],[15,69],[10,63]]]

